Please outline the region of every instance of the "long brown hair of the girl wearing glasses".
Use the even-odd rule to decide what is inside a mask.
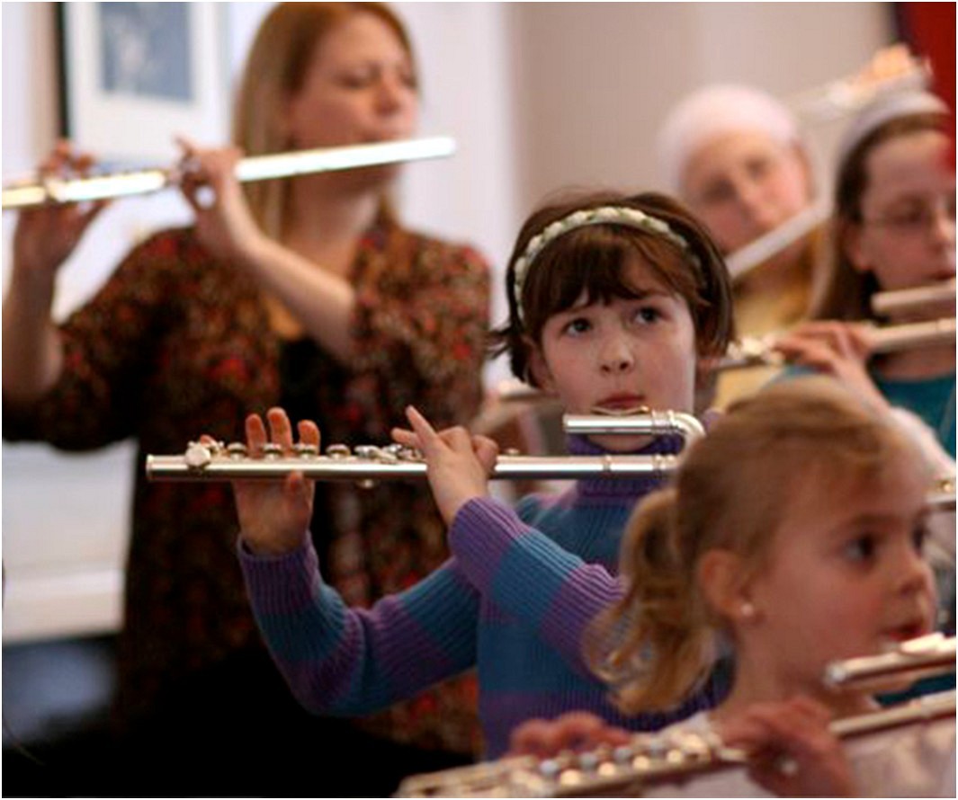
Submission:
[[[874,320],[872,295],[880,291],[872,272],[862,272],[846,254],[849,234],[862,224],[861,198],[869,187],[868,158],[881,144],[924,131],[948,132],[946,114],[924,112],[879,125],[838,166],[831,242],[825,274],[810,303],[813,320]]]

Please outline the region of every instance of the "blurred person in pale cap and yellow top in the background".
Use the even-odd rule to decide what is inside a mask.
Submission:
[[[709,227],[726,256],[812,205],[810,155],[798,122],[784,103],[754,87],[715,84],[681,100],[662,124],[658,149],[666,187]],[[761,336],[805,318],[821,240],[811,228],[735,281],[740,335]],[[723,373],[717,404],[757,389],[771,374]]]

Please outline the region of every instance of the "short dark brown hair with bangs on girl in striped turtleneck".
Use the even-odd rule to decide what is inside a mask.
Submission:
[[[515,262],[530,239],[574,211],[603,206],[636,209],[667,223],[673,233],[688,243],[689,253],[656,233],[614,223],[585,226],[563,233],[536,256],[523,284],[522,297],[515,297]],[[545,323],[575,304],[583,292],[590,302],[637,297],[626,279],[627,267],[635,256],[641,257],[688,304],[699,354],[725,352],[735,335],[731,282],[719,248],[705,227],[691,211],[667,195],[605,191],[565,197],[534,211],[526,220],[506,273],[509,322],[492,332],[492,354],[508,353],[513,374],[535,385],[530,369],[531,343],[541,341]],[[695,256],[697,265],[690,256]]]

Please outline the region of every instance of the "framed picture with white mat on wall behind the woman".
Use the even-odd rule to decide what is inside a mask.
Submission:
[[[169,165],[173,137],[223,144],[216,3],[59,3],[62,134],[103,162]]]

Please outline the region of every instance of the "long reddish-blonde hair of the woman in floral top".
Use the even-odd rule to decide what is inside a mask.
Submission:
[[[409,36],[383,3],[281,3],[262,21],[246,59],[234,106],[234,144],[250,156],[290,148],[286,103],[302,89],[323,37],[357,13],[373,14],[396,33],[415,68]],[[262,231],[280,236],[289,181],[257,181],[243,189]]]

